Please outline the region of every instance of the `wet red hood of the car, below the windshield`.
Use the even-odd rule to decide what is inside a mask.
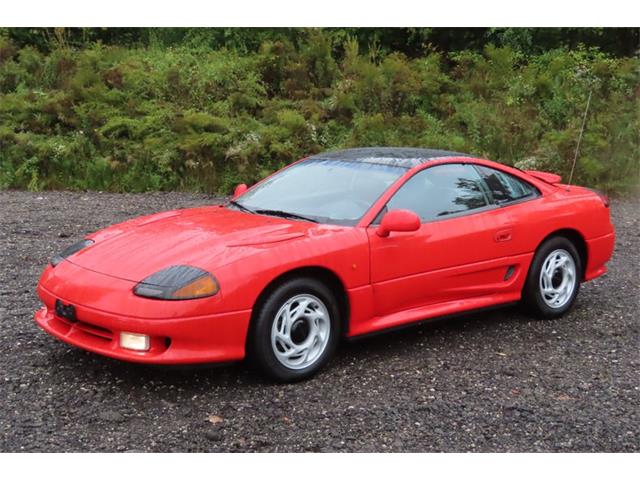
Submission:
[[[87,237],[93,245],[67,261],[139,282],[172,265],[210,271],[250,254],[256,246],[269,248],[304,237],[313,226],[222,206],[173,210],[100,230]]]

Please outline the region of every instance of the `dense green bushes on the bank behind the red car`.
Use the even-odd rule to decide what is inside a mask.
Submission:
[[[639,180],[639,62],[595,47],[535,52],[509,29],[498,33],[517,41],[448,53],[365,48],[367,32],[349,29],[255,31],[255,44],[246,29],[188,29],[180,42],[163,29],[126,46],[74,47],[58,32],[40,48],[11,30],[0,30],[0,188],[228,192],[307,154],[369,145],[566,178],[589,91],[576,180],[607,191]]]

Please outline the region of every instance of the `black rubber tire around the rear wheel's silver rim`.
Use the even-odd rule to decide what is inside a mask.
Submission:
[[[545,264],[545,261],[554,252],[566,252],[573,259],[575,265],[575,284],[571,295],[568,296],[565,303],[557,307],[549,305],[548,301],[543,298],[543,292],[541,288],[541,271]],[[526,307],[529,313],[538,318],[558,318],[567,313],[573,304],[575,303],[578,291],[580,290],[580,281],[582,279],[582,260],[580,254],[576,249],[576,246],[567,237],[557,236],[551,237],[542,243],[535,256],[529,273],[527,275],[527,281],[522,291],[523,305]],[[559,270],[558,270],[559,271]],[[562,273],[560,273],[562,276]],[[555,281],[555,275],[554,275]]]

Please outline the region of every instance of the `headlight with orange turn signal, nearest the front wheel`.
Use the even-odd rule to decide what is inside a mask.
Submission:
[[[142,280],[133,293],[161,300],[191,300],[210,297],[219,290],[218,281],[209,272],[188,265],[174,265]]]

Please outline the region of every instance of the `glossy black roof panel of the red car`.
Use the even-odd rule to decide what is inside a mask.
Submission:
[[[418,165],[447,157],[470,157],[467,153],[450,152],[448,150],[434,150],[429,148],[404,148],[404,147],[369,147],[347,148],[322,152],[309,157],[309,160],[342,160],[348,162],[375,163],[404,168],[413,168]]]

